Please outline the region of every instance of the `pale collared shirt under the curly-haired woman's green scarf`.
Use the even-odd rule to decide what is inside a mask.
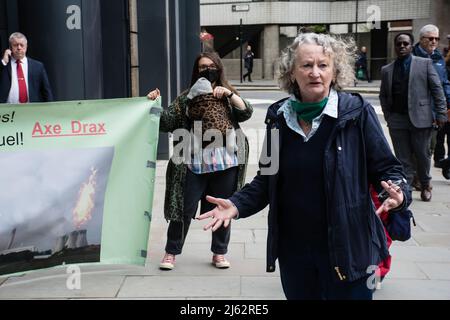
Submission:
[[[328,103],[325,106],[322,114],[317,116],[312,121],[311,131],[306,134],[300,124],[298,123],[297,112],[291,107],[291,100],[296,100],[295,96],[292,95],[290,99],[286,100],[280,109],[278,109],[278,114],[283,113],[284,118],[286,119],[286,124],[288,127],[294,132],[298,133],[303,137],[305,142],[308,142],[313,135],[319,129],[320,124],[322,123],[322,119],[324,115],[328,115],[334,119],[338,117],[338,104],[339,104],[339,96],[336,90],[330,90],[330,96],[328,97]]]

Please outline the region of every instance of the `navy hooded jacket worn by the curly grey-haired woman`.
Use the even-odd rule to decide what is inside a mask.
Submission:
[[[283,100],[273,104],[267,113],[268,150],[271,149],[269,130],[280,128],[283,115],[277,115],[277,110],[282,103]],[[278,150],[281,144],[279,141]],[[263,169],[261,164],[260,169]],[[373,107],[359,95],[339,93],[338,119],[325,148],[323,170],[331,267],[337,281],[354,281],[367,276],[368,267],[378,265],[389,254],[369,185],[380,189],[381,181],[405,179],[402,165],[392,154]],[[251,216],[269,204],[267,271],[273,272],[278,257],[278,174],[262,175],[261,172],[230,200],[238,208],[239,218]],[[404,211],[411,203],[411,192],[406,184],[402,189],[405,202],[401,210]],[[298,228],[301,232],[308,226]]]

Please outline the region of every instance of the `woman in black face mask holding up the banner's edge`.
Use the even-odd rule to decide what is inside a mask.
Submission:
[[[193,91],[198,84],[207,83],[211,93],[193,97]],[[205,88],[205,87],[203,87]],[[201,91],[201,90],[198,90]],[[212,114],[210,119],[204,118],[200,125],[214,124],[213,120],[231,123],[230,130],[239,130],[239,122],[248,120],[253,108],[243,100],[236,89],[225,79],[224,68],[219,56],[213,52],[204,52],[194,61],[190,88],[181,93],[169,108],[161,115],[160,130],[163,132],[175,132],[184,129],[191,132],[195,127],[193,118],[198,113],[202,97],[208,98],[206,107],[220,108],[223,113]],[[158,99],[160,91],[155,89],[148,94],[151,100]],[[206,99],[205,98],[205,99]],[[206,113],[206,112],[205,112]],[[212,129],[214,125],[212,126]],[[203,135],[204,136],[204,135]],[[184,139],[184,138],[183,138]],[[201,212],[212,208],[205,200],[206,194],[214,194],[217,197],[229,197],[240,189],[245,181],[245,172],[248,159],[248,142],[245,138],[237,139],[237,145],[230,148],[215,146],[200,150],[200,156],[188,155],[186,161],[179,161],[174,155],[167,167],[166,196],[164,203],[164,216],[169,222],[167,230],[166,253],[160,263],[160,269],[172,270],[175,267],[175,256],[181,254],[184,242],[192,219],[197,212],[198,203],[201,201]],[[184,141],[181,141],[184,142]],[[175,147],[181,143],[175,142]],[[243,159],[238,157],[236,149],[240,146],[240,152],[244,152]],[[200,159],[200,160],[198,160]],[[217,268],[228,268],[230,262],[225,258],[230,241],[230,228],[220,228],[212,234],[211,251],[212,263]]]

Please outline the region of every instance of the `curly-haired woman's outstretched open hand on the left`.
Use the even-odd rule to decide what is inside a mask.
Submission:
[[[219,229],[222,224],[225,228],[230,225],[231,219],[238,215],[238,209],[233,205],[230,200],[220,199],[207,196],[206,200],[208,202],[215,204],[216,207],[208,211],[200,216],[198,216],[197,220],[204,220],[207,218],[211,218],[211,222],[203,227],[203,230],[212,229],[212,231],[216,231]]]

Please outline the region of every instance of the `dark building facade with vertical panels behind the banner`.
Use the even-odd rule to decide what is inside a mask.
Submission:
[[[145,96],[167,106],[201,51],[199,0],[0,0],[1,53],[22,32],[57,101]],[[167,135],[159,154],[167,157]]]

